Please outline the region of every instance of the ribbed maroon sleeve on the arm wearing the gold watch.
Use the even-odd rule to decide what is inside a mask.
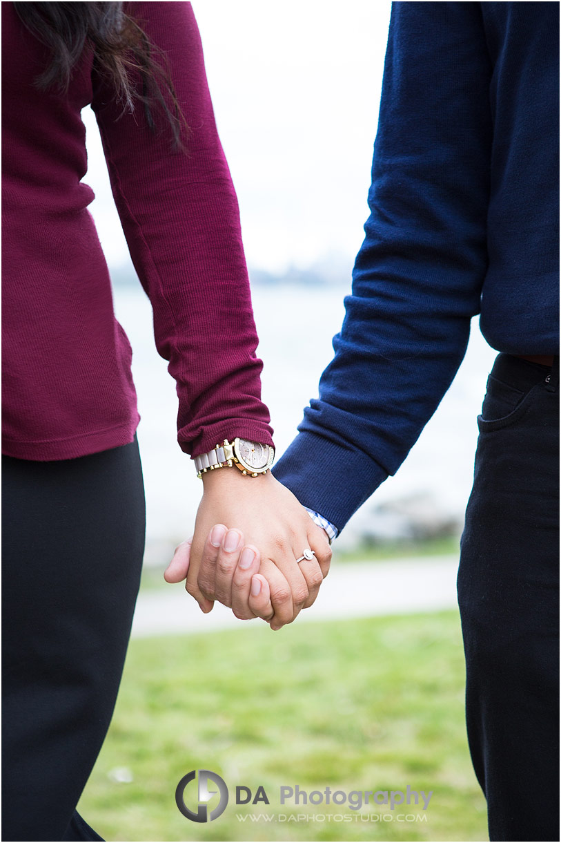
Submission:
[[[113,89],[93,71],[92,109],[132,262],[152,303],[159,354],[179,396],[178,441],[195,456],[226,437],[272,444],[260,400],[262,362],[243,255],[238,200],[216,132],[200,35],[190,3],[125,3],[165,52],[190,126],[187,152],[142,102],[122,115]],[[158,52],[154,59],[162,63]],[[136,73],[136,72],[135,72]],[[140,85],[140,75],[132,76]],[[169,99],[167,99],[169,102]]]

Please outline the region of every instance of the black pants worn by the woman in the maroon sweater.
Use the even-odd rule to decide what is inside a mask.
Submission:
[[[135,440],[3,456],[3,840],[101,840],[76,813],[113,714],[145,535]]]

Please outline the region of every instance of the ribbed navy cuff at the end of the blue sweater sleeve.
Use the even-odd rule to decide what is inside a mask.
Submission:
[[[322,513],[339,532],[387,478],[364,451],[307,431],[286,448],[272,473],[303,507]]]

